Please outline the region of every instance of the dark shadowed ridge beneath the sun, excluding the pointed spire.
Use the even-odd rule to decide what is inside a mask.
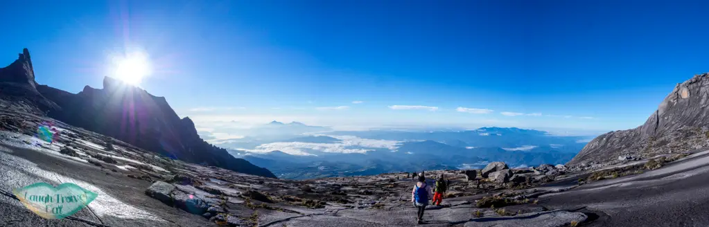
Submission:
[[[167,100],[116,79],[104,78],[104,88],[86,86],[76,95],[42,87],[40,91],[62,111],[50,117],[69,124],[162,153],[190,163],[215,165],[239,173],[276,177],[269,170],[234,158],[225,149],[208,144],[199,137],[194,123],[180,119]]]

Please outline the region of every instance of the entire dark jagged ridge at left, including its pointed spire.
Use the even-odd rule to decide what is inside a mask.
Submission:
[[[27,49],[15,62],[0,68],[0,98],[12,105],[27,105],[33,114],[48,115],[171,158],[276,177],[266,168],[203,141],[189,118],[180,119],[165,98],[143,89],[110,77],[104,78],[103,89],[85,86],[77,94],[38,85]]]

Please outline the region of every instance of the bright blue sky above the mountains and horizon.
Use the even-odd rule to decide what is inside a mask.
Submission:
[[[77,93],[85,85],[101,88],[110,56],[141,50],[154,70],[140,86],[198,125],[628,129],[642,124],[676,83],[709,71],[707,6],[11,2],[0,8],[0,62],[28,47],[38,83]]]

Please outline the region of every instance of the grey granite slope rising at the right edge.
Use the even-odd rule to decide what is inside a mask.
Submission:
[[[649,158],[709,147],[709,74],[677,83],[640,127],[596,137],[568,165],[609,163],[618,156]]]

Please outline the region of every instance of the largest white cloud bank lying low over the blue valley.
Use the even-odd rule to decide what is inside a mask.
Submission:
[[[399,141],[362,139],[357,136],[333,136],[340,139],[340,142],[332,144],[317,144],[303,142],[276,142],[261,144],[256,149],[246,150],[253,153],[268,153],[271,151],[283,151],[296,156],[311,156],[308,151],[318,151],[325,153],[367,153],[372,149],[396,150]]]

